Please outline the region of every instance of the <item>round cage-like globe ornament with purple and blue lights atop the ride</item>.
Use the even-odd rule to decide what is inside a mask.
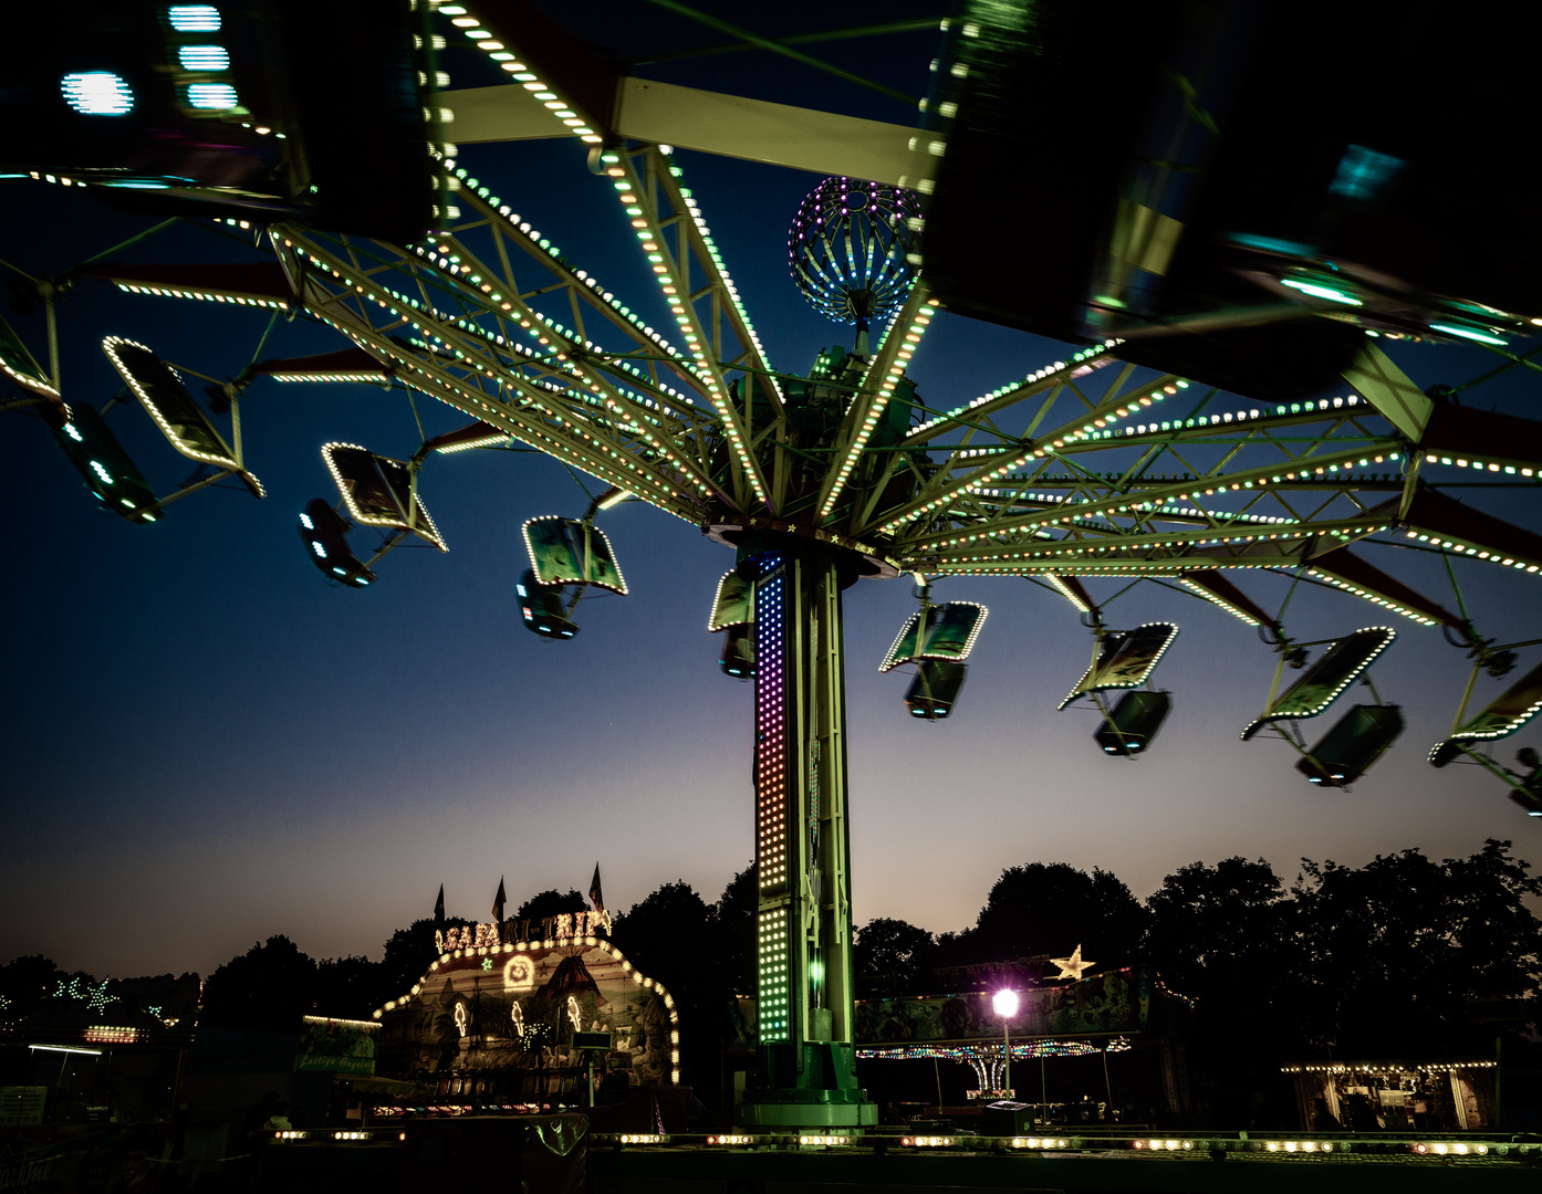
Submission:
[[[857,351],[871,324],[882,324],[914,280],[907,260],[921,202],[914,191],[862,179],[825,179],[797,210],[788,230],[793,280],[814,310],[836,324],[856,324]]]

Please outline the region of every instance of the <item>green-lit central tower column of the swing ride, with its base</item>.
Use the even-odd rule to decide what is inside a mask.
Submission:
[[[745,1125],[877,1122],[854,1074],[840,590],[856,568],[842,556],[791,536],[740,545],[756,578],[759,875],[757,1088],[740,1106]]]

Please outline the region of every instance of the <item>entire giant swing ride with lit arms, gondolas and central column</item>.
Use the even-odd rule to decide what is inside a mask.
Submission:
[[[216,11],[170,11],[182,8]],[[352,589],[381,582],[382,559],[409,536],[446,550],[419,493],[430,461],[449,475],[439,461],[455,453],[518,444],[598,479],[606,488],[581,518],[523,524],[529,567],[517,590],[521,618],[547,639],[578,633],[586,595],[628,593],[597,524],[620,501],[648,502],[734,552],[708,630],[725,635],[722,670],[754,689],[762,1077],[743,1108],[746,1125],[874,1122],[853,1074],[851,1026],[842,592],[859,579],[914,581],[917,609],[879,667],[914,667],[904,701],[921,721],[954,715],[967,658],[987,621],[984,605],[933,601],[933,593],[956,576],[1052,587],[1093,639],[1092,664],[1059,707],[1095,707],[1099,750],[1126,761],[1153,747],[1173,710],[1172,693],[1152,686],[1178,626],[1110,629],[1113,598],[1095,599],[1092,585],[1124,585],[1115,596],[1138,582],[1181,589],[1260,632],[1277,667],[1263,712],[1241,738],[1289,743],[1298,770],[1318,787],[1362,780],[1403,727],[1399,706],[1382,698],[1368,673],[1396,632],[1377,626],[1301,642],[1286,633],[1284,610],[1268,613],[1244,585],[1275,575],[1289,579],[1291,592],[1303,584],[1338,589],[1374,604],[1379,616],[1440,627],[1468,650],[1473,681],[1457,727],[1431,763],[1483,766],[1530,815],[1542,817],[1534,753],[1528,772],[1491,755],[1494,743],[1542,709],[1542,666],[1466,716],[1479,673],[1505,675],[1516,652],[1542,639],[1496,647],[1465,607],[1449,612],[1372,562],[1372,555],[1396,561],[1399,547],[1412,547],[1490,568],[1542,568],[1542,536],[1442,488],[1451,476],[1534,488],[1542,424],[1463,404],[1459,396],[1470,385],[1416,382],[1397,361],[1400,340],[1416,339],[1491,348],[1499,362],[1491,374],[1534,368],[1508,350],[1508,337],[1542,322],[1530,308],[1485,305],[1488,291],[1477,283],[1465,305],[1449,296],[1425,302],[1405,294],[1392,304],[1382,293],[1372,300],[1380,283],[1369,268],[1325,280],[1312,253],[1275,242],[1260,248],[1260,233],[1249,253],[1268,304],[1244,313],[1227,307],[1214,320],[1215,344],[1237,331],[1246,351],[1237,348],[1243,340],[1224,340],[1232,347],[1214,359],[1163,356],[1170,340],[1156,333],[1178,316],[1160,313],[1160,296],[1152,297],[1164,273],[1161,245],[1150,237],[1170,217],[1152,214],[1143,223],[1138,213],[1150,210],[1121,199],[1119,219],[1130,223],[1107,254],[1118,279],[1101,277],[1107,294],[1079,307],[1079,322],[1067,324],[1059,308],[1049,320],[1027,300],[1007,310],[999,287],[976,305],[975,314],[1018,327],[1053,324],[1073,340],[1058,359],[1033,362],[978,396],[922,396],[908,364],[927,350],[942,310],[971,310],[961,297],[968,279],[961,282],[956,253],[959,203],[979,177],[970,169],[984,166],[971,166],[965,149],[971,129],[999,116],[975,89],[975,75],[953,69],[938,72],[924,128],[910,131],[914,145],[893,156],[888,177],[831,176],[799,210],[790,236],[793,279],[820,314],[854,330],[854,344],[827,348],[806,374],[780,371],[686,180],[688,162],[663,134],[638,136],[625,111],[614,117],[606,109],[600,85],[614,82],[614,68],[581,45],[554,40],[538,20],[521,23],[521,14],[529,15],[527,6],[427,5],[424,45],[453,48],[472,74],[512,75],[500,91],[507,111],[497,120],[538,132],[487,139],[577,142],[591,185],[612,196],[635,234],[654,293],[623,299],[591,271],[604,268],[603,260],[584,259],[578,247],[571,256],[558,250],[520,214],[518,194],[504,199],[478,179],[443,140],[438,99],[424,83],[433,111],[419,136],[433,151],[423,169],[436,185],[426,226],[412,236],[390,239],[333,206],[183,183],[211,196],[213,225],[259,234],[247,254],[253,259],[146,265],[99,254],[68,273],[71,285],[103,280],[126,296],[261,308],[273,311],[274,324],[302,316],[347,340],[333,353],[254,359],[228,379],[208,379],[211,411],[230,414],[227,439],[177,368],[143,345],[108,337],[103,347],[133,401],[177,453],[197,462],[190,484],[157,496],[108,430],[106,411],[65,394],[57,362],[39,365],[5,324],[0,365],[49,422],[100,508],[133,522],[159,521],[168,502],[222,478],[262,496],[242,454],[241,399],[250,387],[352,381],[453,408],[470,422],[424,436],[404,459],[356,444],[321,450],[339,498],[308,502],[299,533],[321,573]],[[964,28],[944,40],[945,66],[976,62]],[[430,69],[436,77],[438,68]],[[444,97],[447,106],[453,100]],[[467,91],[464,102],[473,108],[475,94]],[[241,123],[242,112],[221,111],[225,123]],[[975,125],[965,119],[970,111]],[[1167,116],[1184,129],[1197,120],[1192,103]],[[251,119],[285,129],[278,109]],[[680,119],[688,134],[689,120]],[[936,146],[947,148],[954,129],[958,153],[944,154]],[[754,145],[743,149],[756,153]],[[839,157],[839,145],[831,153]],[[113,185],[91,171],[31,173],[37,186]],[[1332,203],[1363,199],[1334,194]],[[1260,254],[1266,267],[1255,260]],[[37,290],[52,328],[49,285]],[[1141,304],[1146,314],[1136,317]],[[1542,302],[1534,307],[1542,313]],[[1184,334],[1203,331],[1198,317],[1183,319]],[[1312,385],[1298,381],[1303,361],[1281,359],[1274,373],[1260,359],[1260,336],[1272,328],[1295,337],[1291,344],[1311,336],[1331,342],[1332,351],[1325,347],[1321,359],[1305,362],[1318,367]],[[1297,334],[1303,328],[1306,339]],[[1240,373],[1240,359],[1255,371]],[[384,536],[373,553],[348,544],[365,528]],[[1286,669],[1300,676],[1281,692]],[[1369,687],[1371,703],[1352,706],[1308,746],[1298,723],[1325,713],[1357,683]]]

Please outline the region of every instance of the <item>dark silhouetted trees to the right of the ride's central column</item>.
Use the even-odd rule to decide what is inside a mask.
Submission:
[[[1197,1098],[1246,1106],[1308,1058],[1490,1057],[1496,1028],[1542,1021],[1542,880],[1490,840],[1470,858],[1409,849],[1362,867],[1301,860],[1190,863],[1140,903],[1106,870],[1008,867],[971,927],[931,935],[871,920],[856,935],[860,995],[978,986],[968,968],[1035,957],[1153,966],[1194,1000]],[[1053,975],[1055,971],[1047,971]],[[1486,1021],[1514,1000],[1516,1021]],[[1520,1037],[1516,1035],[1516,1043]]]

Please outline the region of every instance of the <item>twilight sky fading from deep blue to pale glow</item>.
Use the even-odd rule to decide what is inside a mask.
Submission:
[[[803,23],[857,23],[864,8],[825,5],[828,15]],[[911,9],[931,6],[899,5],[893,15]],[[657,31],[629,26],[620,3],[597,12],[604,20],[595,28],[614,31],[618,45],[646,45],[649,35],[668,43],[685,28],[662,14]],[[797,14],[788,20],[796,25]],[[864,57],[874,52],[871,40],[827,54],[922,94],[931,35],[890,42],[884,60]],[[908,120],[897,103],[760,57],[649,69]],[[453,82],[493,80],[467,63]],[[575,263],[634,307],[655,310],[631,230],[577,145],[467,146],[463,160]],[[806,370],[820,347],[850,344],[848,330],[823,324],[786,274],[786,226],[819,179],[691,153],[680,160],[773,362]],[[0,182],[0,259],[32,274],[59,273],[146,226],[31,182]],[[128,253],[143,262],[222,257],[254,254],[207,226]],[[42,319],[5,314],[45,357]],[[60,308],[65,396],[100,407],[116,393],[97,347],[106,334],[228,376],[265,322],[224,305],[82,283]],[[324,328],[281,322],[265,354],[333,347],[341,340]],[[1053,342],[944,314],[911,377],[928,404],[951,405],[1064,354]],[[1420,385],[1460,382],[1496,364],[1477,348],[1419,345],[1396,356]],[[1534,413],[1533,376],[1510,374],[1470,401]],[[464,422],[427,399],[419,410],[430,434]],[[372,589],[332,589],[295,533],[307,499],[336,498],[319,447],[342,439],[409,456],[418,433],[407,399],[367,385],[262,381],[242,411],[247,461],[268,498],[202,491],[148,527],[96,515],[32,413],[0,421],[0,502],[11,511],[0,963],[43,952],[99,977],[208,974],[276,932],[316,957],[379,957],[393,929],[432,911],[439,883],[452,915],[486,917],[500,875],[518,903],[546,887],[586,889],[595,860],[617,909],[675,878],[715,900],[752,855],[751,690],[717,670],[722,639],[705,632],[712,587],[732,556],[652,507],[621,505],[601,525],[631,596],[584,601],[583,632],[571,642],[538,639],[520,626],[513,595],[526,567],[518,527],[534,515],[580,516],[588,498],[543,456],[461,453],[430,459],[421,481],[450,552],[399,550]],[[122,407],[109,424],[157,491],[190,471],[143,411]],[[1527,495],[1453,495],[1536,524]],[[1437,558],[1379,547],[1365,555],[1451,604]],[[1537,578],[1476,565],[1459,578],[1483,635],[1542,633]],[[1288,587],[1257,573],[1238,582],[1269,609]],[[1090,587],[1104,598],[1115,589]],[[913,609],[910,585],[862,581],[845,595],[859,924],[902,917],[933,931],[964,927],[1001,869],[1029,861],[1099,866],[1141,898],[1186,863],[1234,854],[1268,858],[1289,880],[1303,855],[1363,864],[1420,847],[1442,858],[1497,837],[1542,863],[1542,824],[1507,801],[1496,780],[1425,763],[1451,727],[1468,673],[1463,652],[1437,630],[1338,593],[1298,590],[1286,619],[1298,639],[1389,618],[1399,632],[1372,673],[1386,699],[1403,704],[1408,729],[1352,792],[1320,792],[1283,743],[1238,741],[1263,709],[1274,656],[1214,605],[1147,584],[1112,607],[1113,622],[1183,627],[1156,673],[1173,713],[1152,752],[1130,763],[1098,752],[1095,716],[1055,712],[1092,649],[1062,598],[1021,579],[961,578],[938,593],[982,601],[990,618],[956,715],[936,724],[905,715],[908,673],[877,675]],[[1523,653],[1523,667],[1536,650]],[[1479,699],[1500,687],[1480,679]],[[1308,736],[1315,741],[1331,719]],[[1499,758],[1523,744],[1542,746],[1536,727],[1502,743]]]

